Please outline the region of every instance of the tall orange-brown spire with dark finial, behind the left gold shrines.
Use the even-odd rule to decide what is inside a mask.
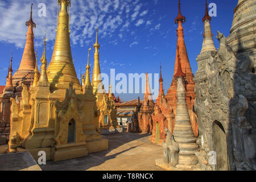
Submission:
[[[22,60],[20,61],[18,70],[13,75],[13,85],[15,88],[15,95],[18,96],[19,98],[21,97],[22,83],[25,84],[27,88],[30,88],[31,82],[34,80],[34,69],[36,65],[36,59],[35,59],[33,28],[36,27],[36,24],[32,20],[32,5],[31,5],[30,20],[26,22],[28,31],[27,31],[27,40],[26,40]]]

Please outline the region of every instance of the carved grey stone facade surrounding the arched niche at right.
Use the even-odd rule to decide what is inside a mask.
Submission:
[[[203,73],[194,79],[197,97],[193,109],[199,124],[199,138],[204,138],[196,155],[201,169],[217,169],[216,165],[208,163],[208,153],[214,151],[213,122],[218,121],[226,134],[229,169],[253,170],[255,134],[251,123],[256,121],[245,117],[248,107],[255,105],[247,101],[256,98],[255,74],[251,73],[253,63],[247,56],[237,59],[219,31],[216,38],[220,42],[217,54],[209,55],[205,68],[200,68]]]

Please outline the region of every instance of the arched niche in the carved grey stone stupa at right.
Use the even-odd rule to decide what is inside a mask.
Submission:
[[[216,152],[216,167],[218,171],[228,171],[228,149],[226,146],[226,134],[224,127],[218,121],[213,122],[214,152]]]

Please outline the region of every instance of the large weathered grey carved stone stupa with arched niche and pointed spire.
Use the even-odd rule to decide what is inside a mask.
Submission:
[[[253,22],[255,16],[247,19],[244,13],[250,11],[243,11],[253,3],[255,5],[254,1],[238,1],[232,30],[241,12],[242,19],[238,24]],[[248,49],[238,51],[237,54],[245,56],[238,59],[228,45],[228,39],[219,31],[216,38],[220,47],[216,51],[210,38],[209,21],[206,14],[203,18],[204,42],[197,57],[199,68],[193,79],[197,96],[194,109],[199,125],[197,143],[200,146],[200,151],[195,154],[202,170],[255,170],[256,77],[251,72],[254,68],[251,54]]]

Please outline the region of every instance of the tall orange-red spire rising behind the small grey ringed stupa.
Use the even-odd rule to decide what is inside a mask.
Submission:
[[[175,23],[178,24],[177,28],[177,49],[176,49],[176,59],[175,59],[175,67],[174,67],[174,75],[177,72],[177,51],[179,49],[180,52],[180,61],[181,61],[181,69],[183,73],[185,73],[185,97],[188,105],[188,111],[191,118],[191,125],[193,127],[193,131],[195,136],[198,134],[198,126],[195,119],[195,113],[193,113],[193,103],[195,101],[196,94],[194,92],[195,83],[193,82],[193,73],[191,71],[191,66],[189,64],[188,60],[188,54],[187,49],[185,46],[184,41],[184,33],[183,33],[183,27],[182,23],[185,22],[185,16],[181,15],[180,12],[180,0],[179,0],[179,14],[177,15],[177,18],[175,19]],[[174,113],[176,113],[176,90],[177,90],[177,82],[176,79],[173,78],[171,82],[171,87],[168,89],[168,92],[166,94],[167,102],[170,104],[172,109],[174,110]],[[172,133],[173,131],[171,131]]]

